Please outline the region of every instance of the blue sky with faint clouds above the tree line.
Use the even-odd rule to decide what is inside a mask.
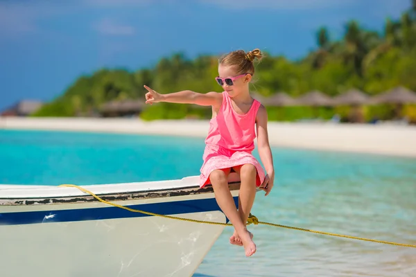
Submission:
[[[51,100],[81,74],[260,48],[297,59],[356,19],[382,30],[410,0],[0,0],[0,110]]]

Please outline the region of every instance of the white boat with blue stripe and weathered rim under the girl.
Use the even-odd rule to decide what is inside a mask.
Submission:
[[[198,177],[83,186],[115,204],[227,222]],[[229,187],[238,203],[239,179]],[[0,276],[192,276],[225,226],[133,213],[78,188],[0,185]]]

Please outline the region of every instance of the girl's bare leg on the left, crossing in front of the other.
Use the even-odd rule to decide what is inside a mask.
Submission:
[[[225,216],[227,216],[229,221],[233,224],[234,229],[244,246],[245,256],[249,257],[256,252],[256,244],[252,241],[250,233],[245,228],[245,222],[241,220],[241,215],[234,204],[234,199],[228,188],[228,174],[229,169],[225,170],[225,172],[223,170],[214,170],[211,172],[211,175],[209,175],[209,179],[214,188],[218,206],[220,206],[223,213],[225,213]],[[247,221],[247,219],[245,221]]]

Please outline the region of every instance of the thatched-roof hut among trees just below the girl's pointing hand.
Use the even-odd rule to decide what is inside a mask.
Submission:
[[[143,100],[121,100],[107,102],[101,107],[103,116],[125,116],[139,114],[144,109]]]

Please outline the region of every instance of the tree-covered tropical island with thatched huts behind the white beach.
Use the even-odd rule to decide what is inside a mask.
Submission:
[[[266,57],[257,64],[253,96],[269,119],[305,118],[367,123],[406,118],[416,123],[416,0],[398,20],[386,19],[383,32],[349,21],[340,39],[322,26],[317,47],[300,60]],[[191,89],[220,92],[218,56],[162,57],[154,68],[101,69],[81,75],[62,95],[31,116],[138,116],[143,120],[201,118],[206,107],[159,103],[144,105],[146,84],[160,93]]]

